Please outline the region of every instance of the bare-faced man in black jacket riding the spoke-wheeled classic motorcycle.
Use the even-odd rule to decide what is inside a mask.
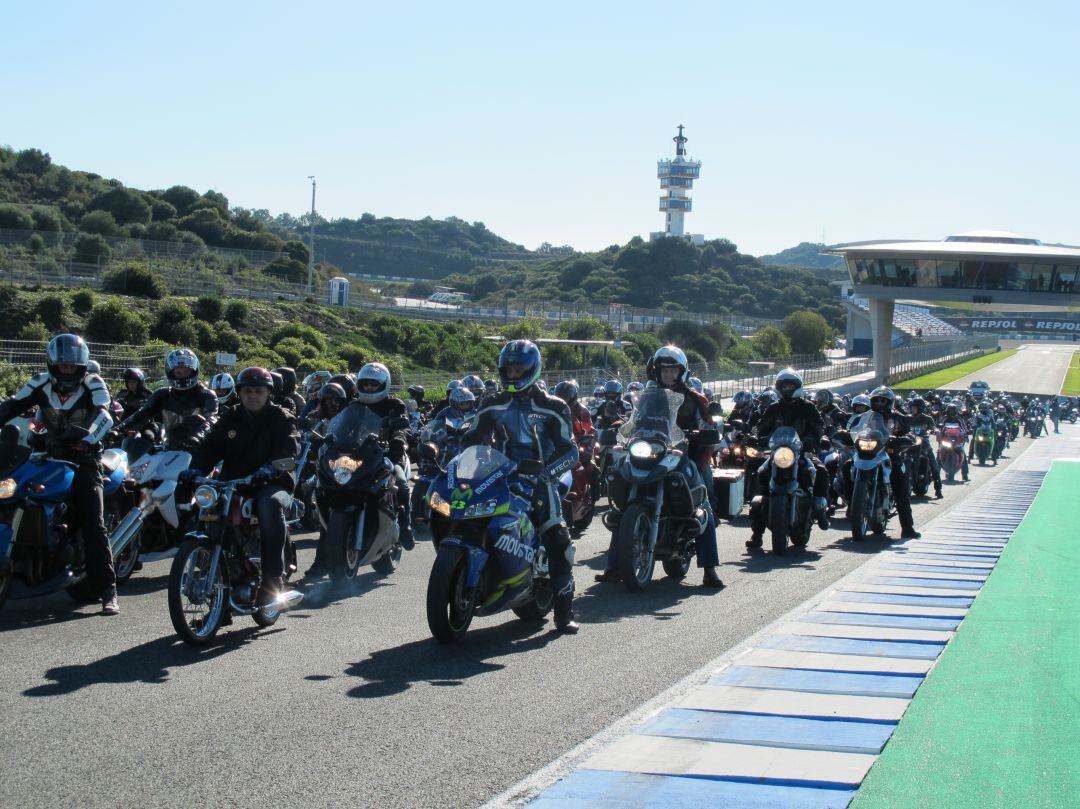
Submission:
[[[275,461],[293,461],[300,450],[296,417],[273,400],[273,377],[266,368],[249,367],[237,377],[240,403],[221,418],[194,448],[191,466],[180,473],[187,483],[221,462],[220,477],[231,481],[254,475],[256,513],[261,538],[262,581],[258,607],[276,601],[285,571],[285,514],[293,503],[296,472],[278,469]]]

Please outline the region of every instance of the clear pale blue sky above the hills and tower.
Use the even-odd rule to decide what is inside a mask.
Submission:
[[[976,228],[1080,242],[1077,2],[38,2],[2,17],[0,143],[141,188],[484,221],[662,226],[756,255]]]

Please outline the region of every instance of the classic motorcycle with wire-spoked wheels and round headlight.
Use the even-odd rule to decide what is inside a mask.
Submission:
[[[292,458],[274,462],[279,470],[293,464]],[[282,612],[303,599],[299,591],[287,590],[272,605],[256,606],[262,579],[261,541],[252,482],[252,475],[235,481],[194,481],[198,521],[168,571],[168,617],[176,634],[189,646],[210,643],[227,615],[251,616],[259,626],[272,626]],[[285,516],[285,581],[296,572],[292,530],[302,510],[294,500]]]

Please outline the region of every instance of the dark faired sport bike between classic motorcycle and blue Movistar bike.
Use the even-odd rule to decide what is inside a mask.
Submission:
[[[354,578],[365,565],[387,576],[401,562],[397,487],[404,481],[386,456],[382,428],[367,407],[350,405],[330,421],[319,454],[320,542],[334,581]]]

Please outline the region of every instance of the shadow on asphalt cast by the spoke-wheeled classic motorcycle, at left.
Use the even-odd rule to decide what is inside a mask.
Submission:
[[[256,639],[284,632],[284,628],[262,630],[248,626],[218,635],[215,643],[192,649],[175,635],[158,637],[145,644],[95,660],[92,663],[58,665],[44,673],[44,683],[23,691],[24,697],[58,697],[81,688],[109,683],[162,684],[170,679],[170,669],[204,663],[227,655]]]

